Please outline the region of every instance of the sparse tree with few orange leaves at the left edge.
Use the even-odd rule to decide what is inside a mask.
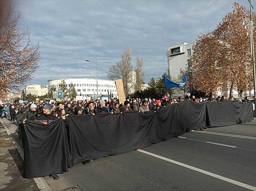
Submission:
[[[0,24],[0,97],[20,90],[39,66],[39,44],[31,43],[28,29],[17,27],[20,13],[11,19],[12,13],[10,9]]]

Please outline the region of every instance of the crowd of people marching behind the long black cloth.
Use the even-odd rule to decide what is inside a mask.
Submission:
[[[204,101],[202,97],[191,98],[187,97],[195,103]],[[151,99],[151,98],[130,98],[120,103],[118,99],[108,100],[85,100],[85,101],[53,101],[53,102],[44,102],[44,103],[13,103],[13,104],[0,104],[0,112],[2,118],[10,118],[12,121],[17,121],[19,129],[22,129],[26,120],[34,120],[41,122],[43,124],[49,124],[52,120],[57,118],[62,118],[66,120],[69,118],[69,115],[97,115],[101,113],[111,113],[111,114],[120,114],[124,111],[138,111],[138,112],[156,112],[156,110],[161,107],[165,107],[169,104],[176,104],[184,101],[180,96],[178,99],[168,99],[166,96],[162,99]],[[249,101],[249,97],[246,96],[245,99],[235,100],[233,97],[226,99],[225,96],[214,98],[214,95],[205,101],[239,101],[246,103]],[[207,127],[200,128],[201,131],[204,131]],[[191,130],[190,132],[193,132]],[[22,142],[23,146],[24,143]],[[83,164],[89,163],[89,161],[84,161]],[[54,180],[59,179],[59,176],[56,174],[51,174],[51,178]]]

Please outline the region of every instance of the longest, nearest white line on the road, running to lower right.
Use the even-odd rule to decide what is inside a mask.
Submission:
[[[246,189],[256,191],[256,187],[251,186],[251,185],[247,185],[247,184],[245,184],[245,183],[243,183],[243,182],[239,182],[239,181],[236,181],[236,180],[232,180],[232,179],[230,179],[230,178],[226,178],[226,177],[224,177],[224,176],[220,176],[220,175],[218,175],[218,174],[214,174],[214,173],[212,173],[212,172],[208,172],[208,171],[202,170],[202,169],[200,169],[200,168],[196,168],[196,167],[193,167],[193,166],[190,166],[190,165],[186,165],[186,164],[184,164],[184,163],[180,163],[180,162],[178,162],[178,161],[174,161],[174,160],[171,160],[171,159],[168,159],[168,158],[165,158],[165,157],[156,155],[156,154],[154,154],[154,153],[147,152],[147,151],[145,151],[145,150],[137,149],[137,151],[143,152],[143,153],[145,153],[145,154],[147,154],[147,155],[151,155],[151,156],[156,157],[156,158],[158,158],[158,159],[162,159],[162,160],[164,160],[164,161],[168,161],[168,162],[170,162],[170,163],[174,163],[174,164],[176,164],[176,165],[180,165],[180,166],[189,168],[189,169],[191,169],[191,170],[195,170],[195,171],[197,171],[197,172],[200,172],[200,173],[203,173],[203,174],[212,176],[212,177],[214,177],[214,178],[218,178],[218,179],[220,179],[220,180],[224,180],[224,181],[226,181],[226,182],[230,182],[231,184],[238,185],[238,186],[240,186],[240,187],[244,187],[244,188],[246,188]]]

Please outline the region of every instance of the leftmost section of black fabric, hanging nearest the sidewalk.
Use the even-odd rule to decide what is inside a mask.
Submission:
[[[48,125],[28,120],[24,131],[24,178],[68,171],[67,137],[62,119]]]

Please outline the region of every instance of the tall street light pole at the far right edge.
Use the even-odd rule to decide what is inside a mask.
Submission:
[[[253,85],[254,85],[254,108],[256,111],[256,77],[255,77],[255,58],[254,58],[254,39],[253,39],[253,21],[252,21],[252,2],[250,3],[250,12],[251,12],[251,46],[252,46],[252,68],[253,68]]]

